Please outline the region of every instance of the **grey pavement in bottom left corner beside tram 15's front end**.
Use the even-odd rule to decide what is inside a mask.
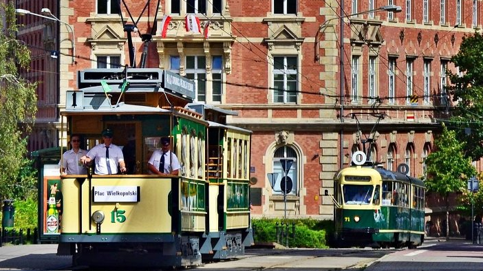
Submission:
[[[0,270],[63,270],[72,257],[57,256],[57,244],[0,247]]]

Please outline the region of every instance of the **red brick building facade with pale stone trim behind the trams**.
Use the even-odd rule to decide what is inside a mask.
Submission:
[[[146,67],[195,80],[199,102],[238,111],[228,122],[253,131],[253,214],[265,217],[287,210],[290,217],[332,219],[324,192],[333,191],[334,173],[356,150],[369,149],[389,169],[405,163],[410,175],[423,175],[438,120],[451,106],[444,89],[445,71],[455,69],[449,60],[483,20],[480,0],[345,0],[342,13],[335,0],[163,0],[145,9],[146,1],[124,2],[135,21],[144,10],[133,33],[136,59],[141,34],[155,21]],[[114,3],[60,0],[60,19],[76,34],[76,56],[74,63],[61,56],[58,109],[65,91],[76,89],[78,69],[129,64]],[[365,12],[390,4],[402,12]],[[120,12],[132,23],[125,6]],[[185,29],[193,13],[200,33]],[[166,36],[164,14],[171,17]],[[61,28],[62,41],[67,35]],[[61,52],[69,53],[67,45]],[[284,159],[293,161],[287,208],[279,192]],[[268,173],[279,173],[275,189]]]

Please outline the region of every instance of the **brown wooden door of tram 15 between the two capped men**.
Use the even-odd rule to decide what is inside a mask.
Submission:
[[[112,143],[122,149],[127,174],[142,174],[142,136],[140,122],[107,122],[106,128],[112,129]]]

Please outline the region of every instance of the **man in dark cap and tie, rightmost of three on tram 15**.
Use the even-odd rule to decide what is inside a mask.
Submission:
[[[161,150],[155,150],[148,162],[148,169],[151,174],[157,175],[178,175],[180,161],[169,149],[169,138],[161,138]]]

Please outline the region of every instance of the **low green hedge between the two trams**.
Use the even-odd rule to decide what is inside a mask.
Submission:
[[[278,223],[289,225],[290,247],[297,248],[327,248],[327,232],[333,231],[333,221],[315,219],[253,219],[252,225],[255,231],[255,242],[275,242],[277,241]],[[292,224],[295,225],[295,238],[292,238]]]

